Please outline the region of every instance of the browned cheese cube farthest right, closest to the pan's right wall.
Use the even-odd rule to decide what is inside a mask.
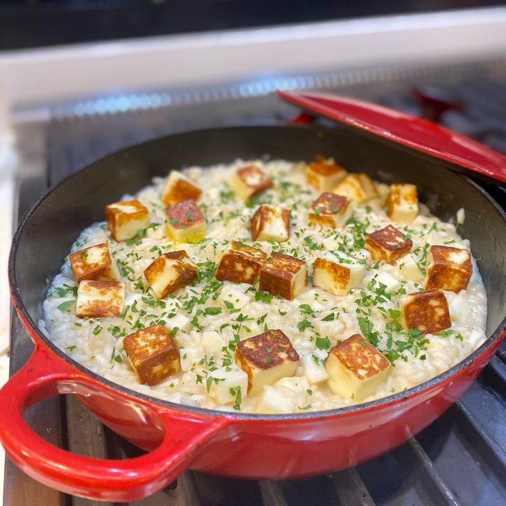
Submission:
[[[427,265],[424,283],[427,289],[442,288],[459,293],[467,288],[473,274],[471,253],[458,247],[430,246]]]

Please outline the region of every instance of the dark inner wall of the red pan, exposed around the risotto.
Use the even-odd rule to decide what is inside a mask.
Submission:
[[[487,335],[501,324],[506,305],[504,213],[466,177],[355,132],[315,127],[239,127],[186,132],[116,152],[69,177],[29,211],[15,237],[10,275],[33,322],[42,315],[48,280],[82,229],[104,219],[105,204],[134,193],[173,168],[234,159],[310,160],[334,157],[351,172],[382,182],[416,184],[419,198],[442,220],[464,208],[459,233],[471,241],[488,297]]]

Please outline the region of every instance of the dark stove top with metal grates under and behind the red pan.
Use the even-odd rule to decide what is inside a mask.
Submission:
[[[448,71],[418,70],[381,82],[332,74],[310,76],[311,80],[294,76],[286,78],[284,84],[381,101],[437,119],[506,152],[506,63],[456,66],[451,76]],[[47,186],[133,143],[193,128],[287,121],[296,110],[266,95],[272,86],[259,80],[223,88],[98,98],[53,108],[48,123],[21,129],[19,215]],[[503,189],[484,186],[506,209]],[[30,349],[26,333],[13,317],[11,372],[24,363]],[[142,453],[103,426],[73,396],[46,399],[30,408],[26,417],[37,433],[76,453],[109,458]],[[233,480],[186,471],[163,491],[130,504],[504,505],[505,420],[503,344],[478,381],[442,417],[399,448],[365,464],[328,475],[283,481]],[[6,463],[4,506],[99,504],[103,503],[53,491]]]

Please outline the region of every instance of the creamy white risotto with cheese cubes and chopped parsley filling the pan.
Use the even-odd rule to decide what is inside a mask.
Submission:
[[[234,181],[237,170],[245,166],[259,168],[260,176],[253,175],[249,181],[250,186],[258,186],[252,189],[256,192],[253,196],[248,195],[247,181],[243,189],[239,187],[241,181]],[[471,250],[469,241],[458,234],[463,210],[455,217],[455,223],[444,223],[419,203],[416,218],[402,223],[392,220],[395,213],[387,214],[385,202],[392,189],[384,184],[373,184],[367,189],[367,181],[357,179],[366,194],[372,193],[360,202],[355,190],[350,193],[349,188],[342,186],[349,208],[343,210],[342,202],[336,200],[333,205],[337,208],[330,207],[330,211],[346,211],[344,221],[338,223],[336,216],[340,213],[334,212],[335,223],[326,225],[317,219],[318,206],[311,207],[326,183],[311,180],[306,171],[305,164],[282,160],[238,160],[229,165],[187,168],[182,171],[182,181],[193,182],[202,193],[195,195],[195,209],[184,208],[185,219],[190,223],[179,228],[181,216],[166,211],[167,207],[171,209],[166,203],[177,202],[177,195],[165,195],[165,179],[155,178],[136,195],[125,195],[123,200],[139,200],[139,209],[148,209],[148,221],[141,226],[141,221],[132,222],[133,233],[122,229],[131,237],[125,240],[119,229],[114,229],[119,227],[119,218],[112,216],[116,208],[111,206],[107,221],[118,241],[106,223],[85,229],[72,252],[94,245],[103,245],[107,252],[107,245],[112,263],[105,265],[108,270],[103,277],[78,277],[78,283],[73,270],[78,272],[79,266],[72,268],[67,257],[44,301],[41,328],[78,363],[136,392],[202,408],[271,413],[329,410],[401,392],[446,371],[485,341],[487,299],[476,261],[471,259],[473,270],[469,284],[464,279],[465,289],[437,290],[448,288],[444,284],[448,277],[455,279],[464,272],[466,278],[465,269],[460,268],[463,259],[457,258],[462,250]],[[263,184],[261,174],[272,185]],[[342,177],[339,175],[336,181],[342,182]],[[402,198],[403,195],[401,202]],[[399,204],[399,196],[396,203]],[[281,213],[274,216],[274,221],[267,219],[267,225],[259,220],[261,230],[256,230],[259,234],[254,231],[253,240],[252,217],[262,204],[267,205],[264,209],[287,209],[289,231],[283,227],[286,216]],[[127,207],[128,212],[136,211],[132,204]],[[193,230],[191,222],[199,210],[204,216],[204,230]],[[401,232],[399,244],[390,247],[390,253],[385,250],[394,254],[393,259],[382,258],[374,245],[367,247],[369,234],[387,225]],[[188,229],[192,234],[186,234]],[[183,235],[177,235],[179,232]],[[381,250],[381,236],[378,239],[376,246]],[[216,279],[216,269],[223,254],[230,250],[231,241],[240,243],[236,245],[238,250],[246,246],[259,250],[259,259],[252,265],[260,266],[261,272],[273,254],[298,259],[296,265],[307,265],[307,284],[305,270],[294,268],[294,272],[300,272],[295,279],[291,264],[274,269],[270,282],[265,274],[263,289],[263,281],[260,279],[259,284],[254,269],[249,272],[248,282]],[[406,241],[412,242],[407,249]],[[442,251],[453,252],[455,258],[438,263],[436,250],[430,249],[435,245],[446,247]],[[94,251],[85,250],[80,261],[89,262]],[[177,270],[177,283],[163,293],[168,283],[164,284],[161,277],[155,279],[155,269],[145,271],[164,254],[182,251],[187,254],[187,265],[196,268],[189,268],[191,275],[186,281],[184,273]],[[399,254],[402,256],[396,259]],[[462,254],[465,256],[466,252]],[[314,268],[318,258],[319,273]],[[447,270],[448,265],[454,269]],[[226,278],[231,271],[225,267],[224,264]],[[439,268],[433,271],[430,286],[429,268]],[[121,286],[124,299],[121,293],[119,300],[107,303],[117,303],[118,307],[112,310],[115,316],[105,316],[109,313],[100,311],[89,316],[94,313],[76,307],[84,305],[89,310],[93,297],[103,298],[85,291],[90,288],[85,283],[92,284],[86,279],[116,279],[109,284]],[[288,285],[283,285],[286,282]],[[82,300],[76,304],[79,284]],[[105,283],[105,289],[107,286]],[[424,294],[429,288],[436,289],[429,294],[442,293],[444,297],[439,302],[430,299],[428,306],[424,306],[423,299],[415,299],[410,311],[406,302],[412,297],[409,294]],[[294,296],[291,300],[290,290]],[[430,307],[439,303],[444,307],[435,307],[434,315],[429,314]],[[415,324],[410,324],[410,319]],[[435,321],[441,324],[437,329],[433,326]],[[141,371],[141,366],[149,374],[159,367],[156,354],[148,356],[149,350],[141,349],[144,355],[128,356],[123,343],[126,336],[135,337],[153,325],[161,326],[159,333],[166,336],[165,354],[160,357],[170,366],[164,370],[172,373],[156,382],[142,381]],[[274,350],[268,341],[247,341],[254,336],[260,336],[261,341],[269,331],[281,331],[269,335],[288,340],[281,343],[274,339]],[[351,346],[351,336],[357,346]],[[145,344],[142,340],[132,343],[137,343],[138,348]],[[246,353],[248,343],[256,343],[249,348],[250,355]],[[133,348],[130,355],[134,355]],[[135,358],[140,360],[137,365]],[[258,359],[265,365],[259,365]],[[365,383],[369,386],[362,388]]]

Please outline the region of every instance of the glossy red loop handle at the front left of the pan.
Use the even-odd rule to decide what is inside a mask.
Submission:
[[[158,419],[164,437],[146,455],[106,460],[55,447],[24,420],[30,405],[55,394],[96,391],[97,383],[35,341],[26,365],[0,390],[0,441],[10,460],[35,480],[67,494],[128,502],[166,487],[193,462],[202,444],[230,423],[227,417],[182,413],[114,391],[116,397],[119,394],[125,402],[130,398],[137,410]]]

